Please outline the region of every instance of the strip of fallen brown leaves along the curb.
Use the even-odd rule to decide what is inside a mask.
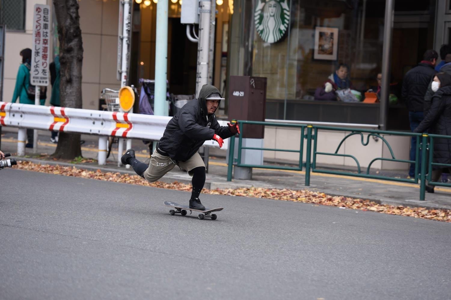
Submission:
[[[156,188],[176,189],[180,191],[191,191],[191,185],[189,184],[181,184],[179,182],[167,184],[160,181],[150,183],[147,182],[146,180],[143,180],[138,175],[128,175],[111,172],[103,173],[101,172],[101,170],[87,171],[83,169],[77,169],[75,167],[40,165],[29,161],[20,161],[18,166],[14,167],[17,167],[18,169],[21,170],[30,170],[35,172],[98,179],[104,181],[114,181],[126,184],[138,184],[143,186],[152,186]],[[423,207],[391,206],[378,204],[376,202],[369,200],[354,199],[340,196],[332,197],[324,193],[316,193],[308,190],[289,190],[276,188],[272,189],[229,188],[229,189],[203,190],[202,193],[314,203],[318,205],[321,204],[329,206],[338,206],[356,210],[372,210],[390,215],[405,215],[414,218],[451,222],[451,210],[440,210],[440,209],[429,210]]]

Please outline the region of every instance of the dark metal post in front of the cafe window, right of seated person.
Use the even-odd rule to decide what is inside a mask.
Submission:
[[[379,125],[387,130],[387,108],[390,94],[391,34],[393,31],[393,14],[395,0],[385,1],[384,46],[382,49],[382,85],[381,103],[379,107]]]

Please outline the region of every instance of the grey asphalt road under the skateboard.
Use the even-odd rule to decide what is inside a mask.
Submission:
[[[0,170],[0,299],[449,299],[451,224]]]

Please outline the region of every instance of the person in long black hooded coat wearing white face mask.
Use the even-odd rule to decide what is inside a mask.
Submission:
[[[431,106],[414,132],[451,135],[451,75],[437,73],[432,82],[432,90],[434,94]],[[433,162],[451,164],[451,139],[434,139]],[[442,166],[433,166],[432,181],[438,181],[445,170],[447,168]],[[434,193],[434,187],[426,185],[426,191]]]

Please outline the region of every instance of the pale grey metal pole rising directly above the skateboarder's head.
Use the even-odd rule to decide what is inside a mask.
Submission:
[[[208,44],[210,35],[210,1],[199,2],[199,42],[198,42],[198,68],[196,81],[196,97],[202,85],[208,83]],[[157,20],[158,22],[158,20]]]

